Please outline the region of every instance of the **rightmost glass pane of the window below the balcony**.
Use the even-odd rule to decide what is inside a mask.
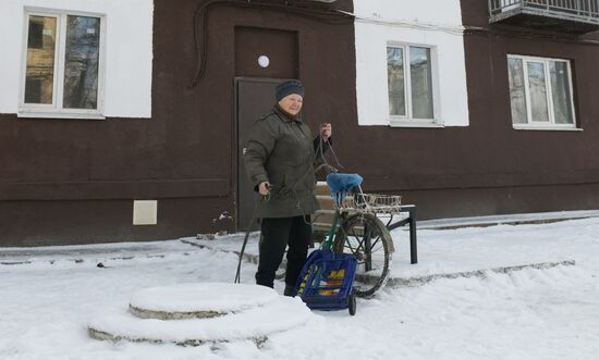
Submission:
[[[553,112],[557,124],[573,124],[572,102],[570,94],[570,74],[567,63],[552,61],[549,63],[551,76],[551,95],[553,96]]]

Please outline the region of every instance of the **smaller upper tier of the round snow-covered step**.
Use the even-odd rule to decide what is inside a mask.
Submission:
[[[151,287],[136,293],[130,311],[143,319],[215,318],[264,307],[280,296],[266,286],[195,283]]]

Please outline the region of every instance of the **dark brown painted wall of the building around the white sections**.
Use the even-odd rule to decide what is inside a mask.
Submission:
[[[351,10],[351,1],[340,1]],[[333,123],[335,152],[367,190],[404,195],[419,219],[599,208],[599,47],[490,27],[462,0],[470,125],[357,126],[353,26],[267,10],[213,11],[205,78],[195,70],[196,1],[155,1],[151,119],[24,120],[0,114],[0,246],[164,239],[231,229],[234,28],[297,32],[305,119]],[[526,29],[525,32],[526,33]],[[587,35],[584,39],[596,39]],[[512,128],[506,54],[566,58],[583,132]],[[239,55],[239,54],[237,54]],[[242,57],[243,58],[243,57]],[[441,95],[443,96],[443,95]],[[158,199],[158,225],[132,226],[132,200]]]

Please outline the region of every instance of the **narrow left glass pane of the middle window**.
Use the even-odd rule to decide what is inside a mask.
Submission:
[[[387,48],[389,114],[405,116],[405,75],[403,48]]]

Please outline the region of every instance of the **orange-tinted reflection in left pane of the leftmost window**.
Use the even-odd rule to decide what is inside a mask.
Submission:
[[[52,103],[57,18],[29,16],[25,102]]]

